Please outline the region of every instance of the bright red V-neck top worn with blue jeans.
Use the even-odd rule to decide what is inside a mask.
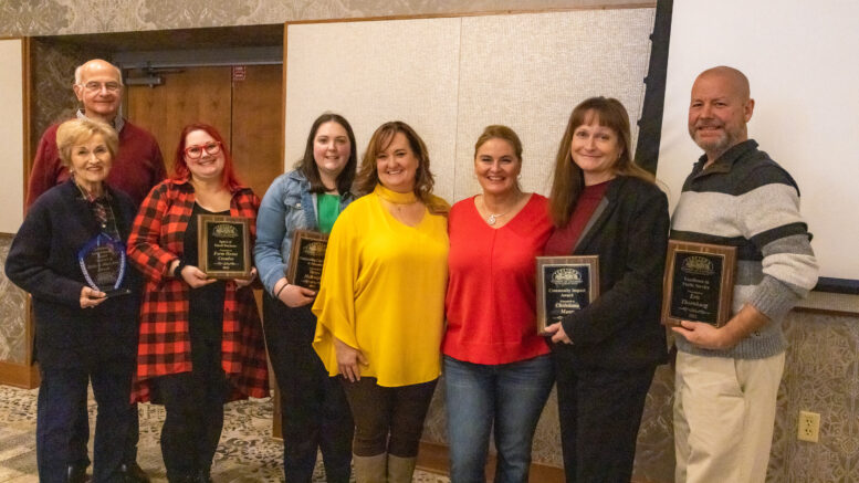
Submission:
[[[548,354],[536,332],[535,258],[552,234],[545,197],[493,229],[467,198],[448,219],[448,327],[442,353],[474,364],[509,364]]]

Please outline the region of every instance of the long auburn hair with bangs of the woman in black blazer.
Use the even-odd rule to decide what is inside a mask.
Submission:
[[[620,101],[614,97],[590,97],[577,105],[569,115],[567,130],[558,145],[555,156],[555,175],[549,193],[548,211],[555,227],[565,227],[569,222],[573,209],[576,207],[582,190],[585,189],[585,176],[573,161],[570,145],[573,134],[583,124],[597,120],[600,126],[608,127],[617,134],[620,144],[620,157],[611,167],[615,175],[633,176],[649,182],[656,178],[632,160],[630,153],[631,135],[629,133],[629,115]]]

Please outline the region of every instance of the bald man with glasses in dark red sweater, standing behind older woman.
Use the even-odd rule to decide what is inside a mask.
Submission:
[[[77,99],[83,104],[83,108],[77,111],[77,117],[105,122],[113,126],[119,135],[119,151],[114,157],[107,183],[125,191],[139,206],[149,190],[165,178],[166,169],[161,150],[158,148],[155,137],[117,115],[123,96],[122,72],[109,62],[94,59],[75,70],[72,88]],[[56,128],[59,126],[60,124],[54,124],[45,129],[39,141],[27,191],[28,208],[40,195],[64,182],[70,177],[69,170],[60,161],[60,153],[56,147]],[[132,428],[126,442],[125,481],[148,483],[149,477],[136,461],[139,437],[137,419]],[[69,442],[74,455],[74,461],[69,464],[66,481],[70,483],[83,483],[88,479],[86,474],[86,468],[90,465],[86,448],[88,439],[90,419],[86,411],[82,411],[75,418],[74,434],[72,441]]]

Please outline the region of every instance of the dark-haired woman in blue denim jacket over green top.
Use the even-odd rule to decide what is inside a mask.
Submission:
[[[355,197],[357,155],[349,123],[323,114],[311,128],[295,170],[272,182],[256,219],[254,259],[265,286],[263,328],[281,396],[283,470],[287,482],[310,482],[322,450],[328,482],[348,482],[353,421],[343,387],[328,377],[311,343],[316,293],[285,274],[295,230],[331,232]]]

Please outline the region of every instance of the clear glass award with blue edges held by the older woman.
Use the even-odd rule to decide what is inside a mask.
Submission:
[[[104,292],[107,297],[132,293],[123,288],[125,279],[125,245],[107,233],[98,233],[80,252],[77,263],[91,288]]]

